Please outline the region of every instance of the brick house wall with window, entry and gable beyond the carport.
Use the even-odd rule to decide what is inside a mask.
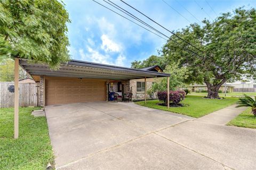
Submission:
[[[143,71],[163,72],[159,66],[151,66],[142,68]],[[149,90],[155,82],[155,78],[147,79],[147,90]],[[111,82],[109,84],[109,92],[116,92],[122,95],[122,82]],[[143,100],[145,97],[145,79],[131,79],[130,80],[130,92],[132,93],[133,100]],[[148,99],[157,99],[156,93],[147,94]]]

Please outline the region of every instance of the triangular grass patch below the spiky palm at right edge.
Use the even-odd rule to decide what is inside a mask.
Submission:
[[[251,111],[251,108],[246,109],[242,112],[242,114],[232,119],[227,125],[256,128],[256,118],[254,118],[254,115],[251,113]]]

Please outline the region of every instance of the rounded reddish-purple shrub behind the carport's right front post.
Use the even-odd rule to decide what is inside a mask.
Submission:
[[[174,105],[177,105],[180,101],[182,101],[185,98],[185,96],[186,96],[186,92],[183,90],[170,91],[169,100]],[[158,97],[159,101],[161,101],[167,105],[167,92],[166,91],[157,92],[157,97]]]

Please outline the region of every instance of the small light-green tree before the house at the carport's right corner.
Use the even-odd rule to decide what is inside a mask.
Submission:
[[[164,72],[171,74],[170,90],[174,91],[177,88],[185,87],[185,79],[187,78],[187,69],[185,67],[179,68],[179,63],[171,63],[166,66]],[[166,91],[167,78],[156,78],[155,83],[152,85],[149,92]]]

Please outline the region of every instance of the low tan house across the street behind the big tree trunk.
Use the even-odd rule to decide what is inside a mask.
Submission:
[[[220,87],[220,91],[222,91],[222,93],[225,93],[225,89],[226,89],[227,93],[232,93],[234,91],[234,86],[224,83]],[[191,92],[205,92],[205,91],[207,91],[207,86],[205,83],[204,84],[194,84],[194,85],[189,86],[189,90]]]

